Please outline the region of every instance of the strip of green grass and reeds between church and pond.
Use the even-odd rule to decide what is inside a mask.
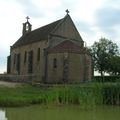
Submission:
[[[120,105],[120,84],[84,83],[80,85],[32,85],[15,88],[0,87],[0,106],[24,106],[30,104],[100,104]]]

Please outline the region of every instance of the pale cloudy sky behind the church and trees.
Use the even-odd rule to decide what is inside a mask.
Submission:
[[[66,9],[87,46],[101,37],[120,46],[120,0],[0,0],[0,73],[6,72],[10,46],[21,37],[26,16],[34,30],[63,18]]]

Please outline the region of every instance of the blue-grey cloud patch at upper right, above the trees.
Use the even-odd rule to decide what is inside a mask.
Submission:
[[[95,20],[95,25],[102,32],[115,38],[117,35],[117,27],[120,25],[120,9],[108,6],[103,7],[97,10]]]

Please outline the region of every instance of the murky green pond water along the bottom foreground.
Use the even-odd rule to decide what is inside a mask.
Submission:
[[[0,110],[0,120],[120,120],[120,107],[40,106]]]

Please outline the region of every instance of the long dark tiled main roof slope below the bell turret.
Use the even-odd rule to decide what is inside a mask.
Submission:
[[[22,37],[20,37],[15,44],[13,44],[12,48],[16,48],[22,45],[27,45],[33,42],[37,42],[40,40],[45,40],[48,38],[49,33],[62,21],[62,19],[35,29],[29,33],[26,33]]]

